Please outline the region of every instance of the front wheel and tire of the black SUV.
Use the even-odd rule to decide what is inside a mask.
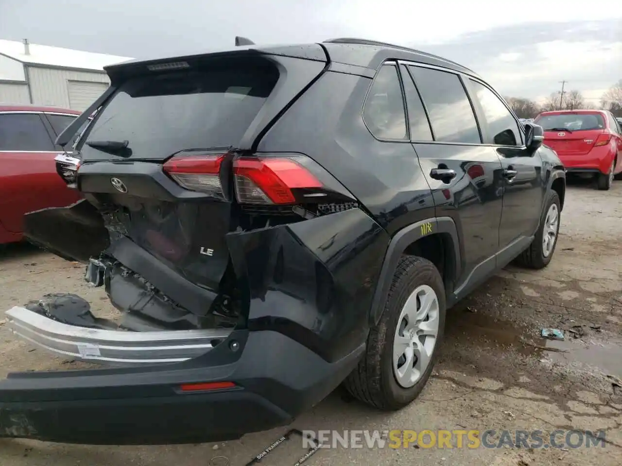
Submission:
[[[560,213],[559,195],[555,191],[549,191],[536,236],[529,247],[516,258],[516,263],[536,269],[549,265],[559,236]],[[554,216],[556,219],[553,218]],[[545,235],[548,237],[547,242],[545,242]]]

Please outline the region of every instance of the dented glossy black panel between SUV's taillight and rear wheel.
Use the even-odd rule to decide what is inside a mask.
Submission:
[[[388,243],[358,208],[228,234],[248,329],[279,331],[329,362],[349,354],[366,340]]]

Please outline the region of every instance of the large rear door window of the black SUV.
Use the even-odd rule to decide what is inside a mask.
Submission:
[[[473,107],[458,75],[409,66],[430,116],[434,140],[481,144]]]

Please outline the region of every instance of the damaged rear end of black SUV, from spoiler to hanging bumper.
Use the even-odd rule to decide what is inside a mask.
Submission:
[[[17,337],[101,367],[9,374],[0,436],[234,439],[289,423],[356,367],[361,283],[388,235],[308,154],[258,150],[329,62],[312,44],[106,68],[108,91],[58,139],[92,117],[57,157],[84,199],[28,214],[26,234],[85,263],[122,317],[68,290],[9,309]]]

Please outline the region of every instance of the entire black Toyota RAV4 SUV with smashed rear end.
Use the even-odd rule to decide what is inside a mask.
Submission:
[[[58,138],[58,174],[85,199],[30,213],[26,234],[84,262],[120,317],[59,280],[7,318],[107,367],[11,373],[0,436],[234,439],[341,383],[399,409],[429,378],[447,308],[554,253],[562,163],[457,63],[338,39],[106,71]]]

